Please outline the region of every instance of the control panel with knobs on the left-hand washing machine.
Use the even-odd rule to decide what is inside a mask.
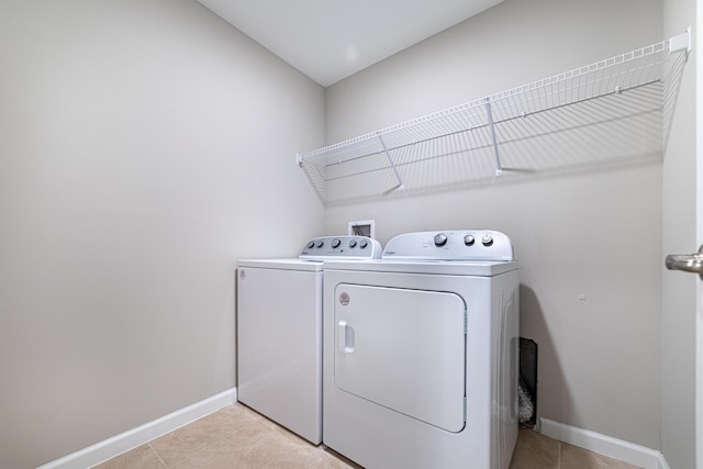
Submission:
[[[301,259],[380,259],[381,244],[365,236],[322,236],[309,241],[300,252]]]

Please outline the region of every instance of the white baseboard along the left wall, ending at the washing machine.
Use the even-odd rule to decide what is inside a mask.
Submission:
[[[37,469],[85,469],[99,465],[235,402],[237,402],[237,390],[232,388]]]

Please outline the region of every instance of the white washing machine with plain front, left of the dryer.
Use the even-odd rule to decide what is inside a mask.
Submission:
[[[298,258],[237,261],[239,402],[321,443],[323,260],[380,256],[376,239],[327,236]]]

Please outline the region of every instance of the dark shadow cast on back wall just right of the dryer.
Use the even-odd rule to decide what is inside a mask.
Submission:
[[[520,335],[539,347],[537,364],[537,425],[539,417],[563,422],[572,405],[561,364],[553,339],[555,321],[545,319],[535,291],[520,284]],[[551,323],[551,324],[550,324]]]

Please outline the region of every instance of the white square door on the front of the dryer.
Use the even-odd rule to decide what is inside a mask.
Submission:
[[[449,432],[466,422],[466,304],[449,292],[339,283],[336,386]]]

